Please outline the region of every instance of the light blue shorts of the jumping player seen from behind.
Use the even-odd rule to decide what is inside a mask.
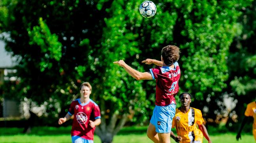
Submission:
[[[155,106],[150,123],[158,133],[169,133],[172,130],[172,118],[175,116],[176,104]]]

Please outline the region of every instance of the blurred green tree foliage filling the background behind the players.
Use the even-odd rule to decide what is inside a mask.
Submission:
[[[81,82],[89,81],[103,125],[113,118],[148,124],[155,81],[136,81],[112,62],[122,59],[149,71],[154,65],[142,60],[161,60],[164,46],[177,45],[179,93],[193,95],[191,106],[202,110],[207,123],[225,119],[228,129],[237,128],[245,103],[256,95],[256,0],[155,0],[152,18],[140,15],[142,2],[1,0],[0,33],[8,35],[2,40],[18,57],[20,77],[1,86],[1,96],[47,105],[45,118],[54,125],[78,98]],[[226,95],[235,108],[222,103]]]

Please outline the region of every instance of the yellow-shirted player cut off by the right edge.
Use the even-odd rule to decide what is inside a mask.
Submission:
[[[241,132],[243,130],[243,127],[245,126],[245,123],[247,122],[247,120],[250,116],[253,117],[252,134],[256,141],[256,101],[249,103],[246,107],[245,118],[243,118],[242,124],[239,128],[237,135],[236,135],[237,141],[239,140],[239,138],[241,139]]]

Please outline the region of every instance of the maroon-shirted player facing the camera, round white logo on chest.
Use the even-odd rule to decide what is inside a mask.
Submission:
[[[101,123],[99,106],[90,99],[91,93],[90,83],[82,83],[80,86],[81,97],[72,101],[66,116],[58,121],[61,125],[74,115],[71,129],[72,143],[93,143],[95,126]]]

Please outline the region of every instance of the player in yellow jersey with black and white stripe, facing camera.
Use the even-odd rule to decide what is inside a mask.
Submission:
[[[202,143],[205,137],[209,143],[209,138],[202,112],[199,109],[190,107],[191,94],[188,92],[179,95],[181,107],[176,109],[176,114],[172,121],[172,127],[176,128],[178,136],[171,132],[171,137],[177,143]],[[198,128],[196,127],[198,125]]]

